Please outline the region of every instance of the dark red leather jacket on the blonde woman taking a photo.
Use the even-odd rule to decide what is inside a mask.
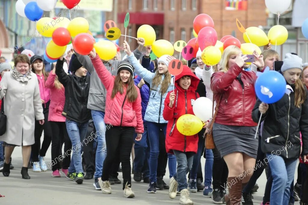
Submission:
[[[241,74],[241,82],[237,76]],[[244,71],[237,64],[231,66],[228,72],[216,72],[211,77],[211,89],[215,101],[219,104],[215,123],[233,126],[257,126],[251,112],[256,103],[254,84],[257,76],[254,72]]]

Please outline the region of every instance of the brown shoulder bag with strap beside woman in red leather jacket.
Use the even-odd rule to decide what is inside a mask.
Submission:
[[[214,95],[213,95],[212,120],[208,123],[208,127],[205,129],[205,132],[204,132],[204,135],[203,135],[203,138],[205,138],[205,148],[206,149],[215,149],[215,143],[214,143],[214,139],[213,139],[212,128],[213,128],[213,123],[214,123],[216,115],[217,115],[221,96],[219,97],[219,100],[216,104],[215,114],[214,114],[214,103],[215,103],[214,100],[215,100],[215,98],[214,98]]]

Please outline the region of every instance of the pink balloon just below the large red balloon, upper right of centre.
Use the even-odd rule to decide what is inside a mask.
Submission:
[[[215,46],[217,42],[217,32],[212,27],[204,27],[199,31],[198,34],[198,44],[203,51],[208,46]]]

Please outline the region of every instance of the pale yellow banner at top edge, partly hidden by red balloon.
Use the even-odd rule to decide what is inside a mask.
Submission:
[[[112,0],[82,0],[78,4],[81,10],[112,11]],[[56,8],[66,8],[62,1],[58,1]]]

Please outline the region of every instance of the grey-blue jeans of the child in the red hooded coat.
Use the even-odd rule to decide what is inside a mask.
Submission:
[[[187,178],[189,170],[193,166],[193,152],[182,152],[178,150],[173,150],[173,153],[176,157],[177,167],[176,174],[174,174],[174,179],[178,183],[178,191],[187,189]]]

